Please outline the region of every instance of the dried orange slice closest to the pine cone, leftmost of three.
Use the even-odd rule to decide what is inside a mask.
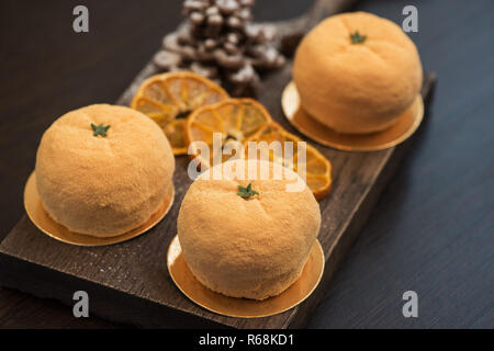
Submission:
[[[187,154],[186,117],[194,110],[225,100],[216,83],[190,71],[169,72],[146,79],[131,107],[153,118],[165,132],[175,155]]]

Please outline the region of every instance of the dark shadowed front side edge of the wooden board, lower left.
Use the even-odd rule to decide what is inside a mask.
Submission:
[[[41,298],[58,301],[67,306],[68,314],[72,314],[74,293],[86,291],[90,301],[90,316],[94,315],[108,320],[144,328],[228,328],[214,320],[160,305],[79,276],[50,270],[10,256],[1,250],[0,267],[2,267],[2,270],[0,270],[0,286]],[[36,274],[32,274],[34,270]],[[20,276],[30,276],[30,279],[19,279]],[[56,288],[53,288],[53,286],[56,286]],[[119,301],[120,303],[115,304]],[[125,306],[125,309],[113,306]]]

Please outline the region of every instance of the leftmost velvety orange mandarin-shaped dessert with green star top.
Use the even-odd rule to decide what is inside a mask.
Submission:
[[[114,237],[149,219],[172,194],[175,158],[159,126],[124,106],[71,111],[45,132],[36,156],[37,191],[69,230]]]

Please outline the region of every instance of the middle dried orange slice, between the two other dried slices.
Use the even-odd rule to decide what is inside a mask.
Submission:
[[[228,99],[195,110],[187,118],[186,139],[190,150],[199,162],[209,168],[215,161],[221,162],[231,159],[243,151],[244,143],[268,126],[272,122],[271,116],[263,105],[252,99]],[[213,149],[214,133],[218,135],[218,146]],[[200,150],[203,141],[209,147],[209,156]],[[231,155],[225,155],[228,148]],[[238,155],[240,156],[240,155]]]

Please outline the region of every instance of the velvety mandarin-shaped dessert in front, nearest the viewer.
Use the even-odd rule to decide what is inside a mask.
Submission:
[[[305,265],[321,227],[319,206],[305,183],[301,191],[287,191],[302,179],[278,163],[227,163],[201,174],[183,199],[178,216],[183,258],[212,291],[252,299],[276,296]],[[248,177],[252,165],[258,171],[250,174],[258,177]],[[269,177],[259,179],[262,167]],[[215,172],[222,178],[207,179]]]

